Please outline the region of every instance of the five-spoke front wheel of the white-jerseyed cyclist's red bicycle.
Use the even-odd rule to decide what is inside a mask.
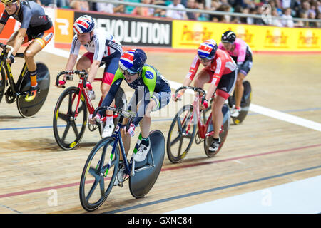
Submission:
[[[75,148],[86,130],[87,106],[81,93],[78,116],[75,118],[79,88],[69,87],[63,90],[54,110],[53,128],[57,144],[63,150]]]

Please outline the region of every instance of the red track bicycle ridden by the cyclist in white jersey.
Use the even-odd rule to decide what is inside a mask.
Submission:
[[[61,149],[72,150],[74,149],[86,130],[88,122],[88,112],[93,114],[95,108],[91,103],[91,99],[86,90],[86,82],[88,73],[86,71],[61,71],[56,77],[56,85],[59,83],[59,78],[66,75],[67,81],[73,80],[73,75],[80,77],[78,86],[71,86],[66,88],[61,93],[57,100],[54,109],[53,129],[54,137]],[[94,81],[102,81],[102,78],[95,78]],[[103,97],[99,101],[99,105],[103,102]],[[122,88],[119,88],[115,96],[115,105],[117,108],[126,108],[127,100],[126,95]],[[113,115],[113,122],[116,125],[118,115]],[[88,123],[88,129],[94,131],[99,130],[100,135],[103,131],[103,125],[106,123],[106,118],[102,118],[100,123],[92,125]]]

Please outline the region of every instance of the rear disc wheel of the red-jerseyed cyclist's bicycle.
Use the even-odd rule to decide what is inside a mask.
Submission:
[[[222,128],[220,129],[220,134],[219,134],[220,135],[220,147],[218,147],[218,150],[212,152],[209,150],[210,144],[213,142],[212,135],[206,136],[205,140],[204,140],[205,155],[207,155],[208,157],[214,157],[215,155],[217,155],[218,152],[220,152],[220,149],[223,147],[223,144],[224,144],[226,138],[228,137],[228,130],[230,129],[230,109],[228,108],[228,105],[226,105],[226,104],[223,105],[222,112],[223,112],[223,124],[222,124]],[[208,128],[206,130],[206,133],[210,133],[211,131],[213,131],[212,120],[210,120],[210,123],[208,124]]]

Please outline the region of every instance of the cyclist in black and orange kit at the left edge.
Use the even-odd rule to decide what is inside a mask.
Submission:
[[[31,86],[25,100],[30,102],[34,100],[36,93],[39,91],[34,56],[51,41],[54,36],[54,26],[49,16],[45,14],[44,9],[34,1],[1,0],[1,2],[4,4],[4,12],[0,19],[0,33],[4,30],[10,16],[21,22],[19,30],[15,31],[6,43],[14,47],[14,51],[7,62],[14,63],[14,56],[20,46],[33,40],[24,51],[24,59],[31,79]]]

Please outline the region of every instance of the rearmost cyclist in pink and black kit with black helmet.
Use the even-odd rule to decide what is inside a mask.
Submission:
[[[238,79],[235,83],[235,106],[231,110],[231,116],[238,117],[240,114],[240,103],[243,96],[243,80],[252,68],[253,58],[250,46],[240,38],[236,38],[233,31],[225,31],[221,38],[222,43],[218,48],[228,51],[233,60],[238,64]]]

